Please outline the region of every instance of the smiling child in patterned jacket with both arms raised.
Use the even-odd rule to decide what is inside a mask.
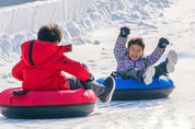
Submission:
[[[170,50],[165,61],[153,67],[153,64],[162,57],[165,47],[170,44],[167,38],[160,38],[158,46],[151,55],[145,56],[145,43],[140,37],[131,38],[128,42],[127,36],[130,34],[128,27],[122,27],[119,36],[114,47],[114,56],[117,61],[115,78],[137,79],[138,81],[150,84],[152,77],[168,75],[174,71],[174,64],[177,61],[177,56],[174,50]]]

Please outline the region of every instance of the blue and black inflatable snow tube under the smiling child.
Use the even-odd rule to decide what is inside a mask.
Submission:
[[[99,78],[96,82],[103,83],[106,78]],[[152,83],[146,85],[144,82],[139,82],[135,79],[124,80],[122,78],[115,78],[115,92],[113,94],[113,101],[138,101],[138,99],[154,99],[168,97],[173,89],[172,80],[162,75],[153,77]]]

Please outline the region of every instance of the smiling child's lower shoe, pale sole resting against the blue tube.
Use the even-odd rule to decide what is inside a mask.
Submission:
[[[144,82],[148,85],[152,82],[152,77],[156,73],[156,69],[153,66],[150,66],[147,68],[147,70],[144,72],[142,78]]]

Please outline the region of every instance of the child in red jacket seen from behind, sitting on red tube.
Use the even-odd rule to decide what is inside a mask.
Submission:
[[[57,24],[42,26],[37,37],[22,44],[22,59],[12,69],[12,75],[23,81],[23,91],[84,87],[93,90],[103,105],[111,102],[114,79],[108,77],[104,84],[99,84],[82,63],[66,57],[64,52],[71,51],[71,45],[58,46],[62,34]],[[61,71],[73,77],[67,78]]]

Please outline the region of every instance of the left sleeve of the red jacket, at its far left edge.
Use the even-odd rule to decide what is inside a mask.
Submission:
[[[21,61],[12,68],[12,77],[19,81],[23,81],[23,71],[21,69]]]

